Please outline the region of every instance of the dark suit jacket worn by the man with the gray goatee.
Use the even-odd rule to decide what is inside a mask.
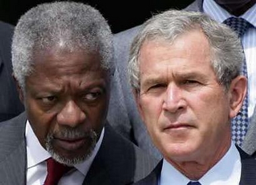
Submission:
[[[0,184],[26,184],[26,114],[0,123]],[[84,185],[131,184],[147,176],[156,161],[105,126],[102,145]]]

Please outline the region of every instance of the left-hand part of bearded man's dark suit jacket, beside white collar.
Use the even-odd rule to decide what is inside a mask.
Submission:
[[[1,124],[0,184],[26,184],[26,116]]]

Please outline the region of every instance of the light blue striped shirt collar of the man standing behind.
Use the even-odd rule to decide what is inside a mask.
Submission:
[[[215,1],[213,0],[204,0],[203,1],[203,12],[210,15],[210,17],[214,18],[217,22],[224,22],[228,17],[235,17],[231,15],[226,9],[220,7]],[[248,9],[243,15],[245,20],[251,23],[256,28],[256,4],[253,5],[250,9]]]

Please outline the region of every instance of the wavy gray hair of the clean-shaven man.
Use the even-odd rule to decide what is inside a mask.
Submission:
[[[232,79],[239,75],[244,60],[241,41],[236,33],[203,13],[168,10],[147,20],[131,44],[128,73],[135,91],[140,87],[139,54],[142,44],[146,40],[172,44],[178,36],[190,30],[201,30],[205,34],[210,43],[211,65],[216,78],[224,89],[228,89]]]

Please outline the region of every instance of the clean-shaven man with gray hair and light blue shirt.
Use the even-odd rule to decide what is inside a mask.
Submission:
[[[141,26],[129,78],[164,159],[137,185],[256,184],[256,161],[231,139],[247,78],[238,36],[203,13],[169,10]]]

